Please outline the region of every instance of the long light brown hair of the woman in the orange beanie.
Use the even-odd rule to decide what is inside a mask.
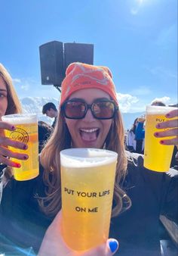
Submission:
[[[112,217],[125,208],[130,207],[130,198],[119,185],[124,180],[127,171],[127,157],[124,152],[124,126],[120,111],[115,113],[109,133],[106,137],[106,149],[118,153],[118,163],[115,175],[114,200],[115,208],[112,209]],[[60,151],[71,148],[71,136],[64,121],[63,111],[59,111],[54,133],[47,145],[41,151],[40,161],[44,167],[44,184],[47,186],[46,197],[39,198],[39,204],[45,214],[54,216],[61,208],[61,184],[60,184]]]

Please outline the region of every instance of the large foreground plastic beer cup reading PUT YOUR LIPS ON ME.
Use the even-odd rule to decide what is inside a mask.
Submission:
[[[117,157],[113,151],[95,148],[60,152],[62,233],[76,251],[108,239]]]

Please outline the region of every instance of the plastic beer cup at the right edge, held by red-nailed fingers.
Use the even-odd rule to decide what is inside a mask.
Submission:
[[[149,170],[167,172],[170,168],[170,161],[173,155],[173,145],[161,145],[161,138],[156,138],[154,133],[165,130],[157,129],[155,126],[157,123],[170,120],[165,117],[165,114],[173,109],[177,108],[146,106],[144,167]],[[171,138],[173,137],[167,137],[164,139]]]

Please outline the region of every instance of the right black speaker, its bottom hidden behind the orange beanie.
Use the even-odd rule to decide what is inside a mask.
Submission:
[[[64,70],[72,62],[94,64],[94,45],[75,42],[64,43]]]

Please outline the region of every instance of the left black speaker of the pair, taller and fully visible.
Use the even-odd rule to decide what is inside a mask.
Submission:
[[[60,86],[65,72],[63,69],[63,42],[47,42],[39,46],[41,84]]]

